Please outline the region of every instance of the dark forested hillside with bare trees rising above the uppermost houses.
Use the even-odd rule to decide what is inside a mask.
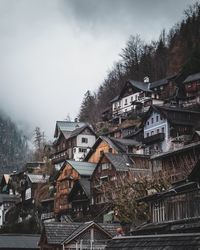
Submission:
[[[80,121],[95,124],[110,101],[119,94],[127,79],[150,82],[182,73],[200,71],[200,3],[184,12],[184,18],[170,29],[163,30],[158,41],[146,43],[133,35],[122,49],[120,60],[113,65],[95,93],[87,91],[80,107]]]

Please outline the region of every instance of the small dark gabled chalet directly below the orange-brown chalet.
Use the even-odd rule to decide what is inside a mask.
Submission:
[[[71,218],[73,221],[87,221],[90,216],[90,180],[81,178],[77,180],[69,193],[71,204]]]

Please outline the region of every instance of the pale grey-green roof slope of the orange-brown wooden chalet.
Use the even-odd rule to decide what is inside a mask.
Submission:
[[[67,160],[66,163],[69,163],[80,175],[83,176],[91,176],[94,169],[96,168],[95,163],[90,163],[85,161]]]

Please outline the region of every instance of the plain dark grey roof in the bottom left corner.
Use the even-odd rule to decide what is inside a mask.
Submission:
[[[39,239],[34,234],[0,234],[0,249],[39,249]]]

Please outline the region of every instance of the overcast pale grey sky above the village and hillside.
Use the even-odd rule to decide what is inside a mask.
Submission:
[[[130,35],[157,39],[193,0],[0,0],[0,108],[53,136]]]

